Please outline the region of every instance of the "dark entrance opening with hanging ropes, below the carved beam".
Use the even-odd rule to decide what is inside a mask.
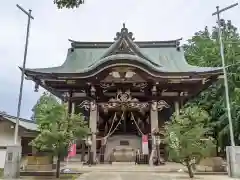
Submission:
[[[111,112],[113,113],[113,112]],[[147,132],[139,112],[126,109],[115,111],[106,137],[104,161],[134,162],[141,150],[142,136]],[[145,121],[144,121],[145,122]]]

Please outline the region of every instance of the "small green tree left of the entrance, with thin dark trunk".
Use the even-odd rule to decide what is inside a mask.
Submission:
[[[57,157],[59,178],[60,159],[67,155],[71,143],[87,135],[87,125],[81,114],[69,115],[66,105],[49,93],[44,93],[33,109],[40,133],[31,144]]]

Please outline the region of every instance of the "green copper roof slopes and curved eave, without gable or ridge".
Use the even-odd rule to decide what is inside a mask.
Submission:
[[[52,68],[28,69],[39,73],[84,73],[96,68],[98,65],[117,59],[128,59],[129,62],[139,61],[148,65],[150,68],[159,72],[208,72],[220,68],[191,66],[186,62],[183,50],[177,51],[176,48],[141,48],[152,62],[159,65],[154,66],[145,59],[136,55],[116,54],[101,58],[105,49],[75,49],[69,51],[66,61],[62,66]]]

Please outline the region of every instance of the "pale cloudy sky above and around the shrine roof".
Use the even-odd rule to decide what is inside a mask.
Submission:
[[[186,41],[205,26],[214,26],[216,6],[236,0],[85,0],[78,9],[59,10],[53,0],[5,0],[0,6],[0,111],[17,113],[17,102],[26,36],[27,16],[17,7],[32,9],[27,68],[61,65],[77,41],[112,41],[126,23],[138,41]],[[224,12],[240,28],[240,6]],[[31,109],[43,89],[34,92],[34,83],[24,81],[21,117],[30,118]]]

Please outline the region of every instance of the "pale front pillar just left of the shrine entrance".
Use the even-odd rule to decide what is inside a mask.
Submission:
[[[98,107],[95,101],[90,102],[90,118],[89,128],[92,132],[92,146],[91,152],[93,153],[93,161],[96,160],[97,147],[96,147],[96,132],[97,132],[97,118],[98,118]]]

